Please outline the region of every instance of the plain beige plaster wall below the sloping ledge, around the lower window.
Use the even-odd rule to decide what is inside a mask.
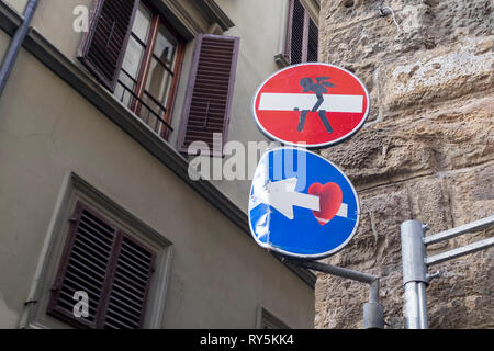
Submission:
[[[313,326],[313,290],[24,50],[0,99],[0,165],[2,328],[19,325],[69,170],[173,244],[164,327],[252,328],[258,305]]]

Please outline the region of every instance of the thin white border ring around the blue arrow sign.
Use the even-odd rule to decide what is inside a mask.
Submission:
[[[348,182],[348,184],[350,185],[351,191],[353,192],[353,196],[355,196],[355,199],[356,199],[356,204],[357,204],[357,222],[356,222],[356,224],[355,224],[355,226],[353,226],[353,230],[351,231],[351,234],[348,236],[348,238],[347,238],[344,242],[341,242],[338,247],[334,248],[333,250],[329,250],[329,251],[326,251],[326,252],[323,252],[323,253],[317,253],[317,254],[300,254],[300,253],[293,253],[293,252],[285,251],[285,250],[279,249],[279,248],[277,248],[277,247],[273,247],[273,246],[271,246],[271,245],[269,245],[269,244],[261,242],[261,241],[257,238],[256,233],[254,231],[252,224],[251,224],[251,220],[250,220],[250,211],[249,211],[249,212],[248,212],[248,222],[249,222],[250,235],[252,236],[252,238],[256,240],[256,242],[257,242],[260,247],[262,247],[262,248],[265,248],[265,249],[267,249],[267,250],[276,251],[276,252],[281,253],[281,254],[283,254],[283,256],[294,257],[294,258],[304,259],[304,260],[319,260],[319,259],[324,259],[324,258],[327,258],[327,257],[329,257],[329,256],[333,256],[333,254],[339,252],[339,251],[340,251],[343,248],[345,248],[345,247],[349,244],[349,241],[353,238],[353,236],[356,235],[356,233],[357,233],[357,230],[358,230],[358,228],[359,228],[359,225],[360,225],[360,200],[359,200],[359,195],[357,194],[357,191],[355,190],[353,184],[352,184],[351,181],[348,179],[347,174],[345,174],[344,171],[341,171],[341,169],[340,169],[338,166],[336,166],[335,163],[333,163],[333,162],[329,161],[328,159],[322,157],[321,155],[315,154],[315,152],[313,152],[313,151],[311,151],[311,150],[307,150],[307,149],[305,149],[305,148],[301,148],[301,147],[283,146],[283,147],[277,147],[277,148],[267,149],[266,152],[265,152],[265,155],[262,155],[262,157],[260,158],[259,163],[258,163],[258,167],[259,167],[259,165],[262,163],[262,160],[265,159],[265,157],[267,157],[270,152],[274,152],[274,151],[280,150],[280,149],[284,149],[284,150],[295,149],[295,150],[300,150],[300,151],[305,151],[305,152],[307,152],[307,154],[312,154],[312,155],[314,155],[314,156],[321,158],[321,159],[324,160],[325,162],[327,162],[327,163],[332,165],[334,168],[336,168],[336,170],[339,171],[339,172],[341,173],[341,176],[345,178],[345,180]],[[257,173],[257,169],[256,169],[255,174],[256,174],[256,173]],[[254,182],[252,182],[252,184],[250,185],[249,203],[250,203],[250,196],[251,196],[251,194],[252,194],[252,188],[254,188]]]

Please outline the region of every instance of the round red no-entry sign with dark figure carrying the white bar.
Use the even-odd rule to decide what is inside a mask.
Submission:
[[[254,118],[266,136],[287,145],[321,148],[343,141],[366,123],[369,93],[351,72],[308,63],[269,77],[252,100]]]

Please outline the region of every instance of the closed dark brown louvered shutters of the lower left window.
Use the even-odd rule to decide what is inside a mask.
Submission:
[[[155,252],[78,202],[48,314],[82,328],[134,329],[144,320]],[[89,316],[76,316],[76,292],[88,296]]]

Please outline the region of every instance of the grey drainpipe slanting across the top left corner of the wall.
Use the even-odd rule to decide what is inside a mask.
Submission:
[[[0,67],[0,97],[3,94],[7,81],[9,80],[10,73],[13,70],[15,60],[18,59],[19,52],[21,50],[24,38],[27,31],[31,29],[31,21],[33,20],[34,12],[40,0],[30,0],[24,9],[24,20],[22,21],[19,29],[15,31],[14,36],[10,43],[9,49],[3,57],[2,65]]]

